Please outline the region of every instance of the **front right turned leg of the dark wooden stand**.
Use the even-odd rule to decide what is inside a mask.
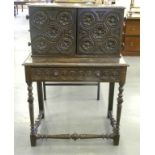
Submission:
[[[117,98],[117,116],[116,116],[116,130],[115,130],[115,137],[114,137],[114,145],[119,144],[119,127],[120,127],[120,118],[121,118],[121,110],[122,110],[122,103],[123,103],[123,86],[124,82],[119,83],[119,93]]]

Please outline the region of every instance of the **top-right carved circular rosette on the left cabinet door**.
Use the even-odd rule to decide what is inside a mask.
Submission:
[[[69,12],[60,12],[57,16],[57,21],[63,26],[72,24],[72,15]]]

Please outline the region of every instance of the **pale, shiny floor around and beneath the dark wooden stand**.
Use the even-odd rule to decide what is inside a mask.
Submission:
[[[27,10],[19,10],[14,19],[14,67],[15,67],[15,155],[139,155],[139,57],[125,57],[130,65],[124,91],[121,117],[120,145],[111,140],[38,140],[30,146],[27,87],[22,63],[31,52],[28,42],[29,21]],[[38,112],[36,85],[34,86],[35,116]],[[118,86],[115,89],[115,105]],[[102,133],[109,130],[106,118],[108,84],[101,84],[101,99],[96,100],[96,86],[47,87],[45,120],[41,133]]]

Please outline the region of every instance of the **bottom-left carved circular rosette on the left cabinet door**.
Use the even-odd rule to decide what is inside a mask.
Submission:
[[[37,50],[38,53],[40,51],[47,50],[49,47],[48,41],[46,38],[44,38],[42,36],[37,37],[36,39],[33,40],[33,47],[35,48],[35,50]]]

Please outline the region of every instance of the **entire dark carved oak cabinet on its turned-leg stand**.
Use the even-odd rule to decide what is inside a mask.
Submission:
[[[107,138],[118,145],[122,93],[128,66],[120,55],[124,8],[86,4],[36,4],[30,5],[29,11],[32,55],[25,60],[24,67],[28,85],[31,146],[35,146],[36,140],[40,138]],[[39,115],[35,122],[32,82],[37,82],[39,102]],[[108,117],[112,133],[38,133],[44,116],[42,82],[110,83]],[[112,111],[116,82],[119,83],[119,93],[117,115],[114,118]]]

